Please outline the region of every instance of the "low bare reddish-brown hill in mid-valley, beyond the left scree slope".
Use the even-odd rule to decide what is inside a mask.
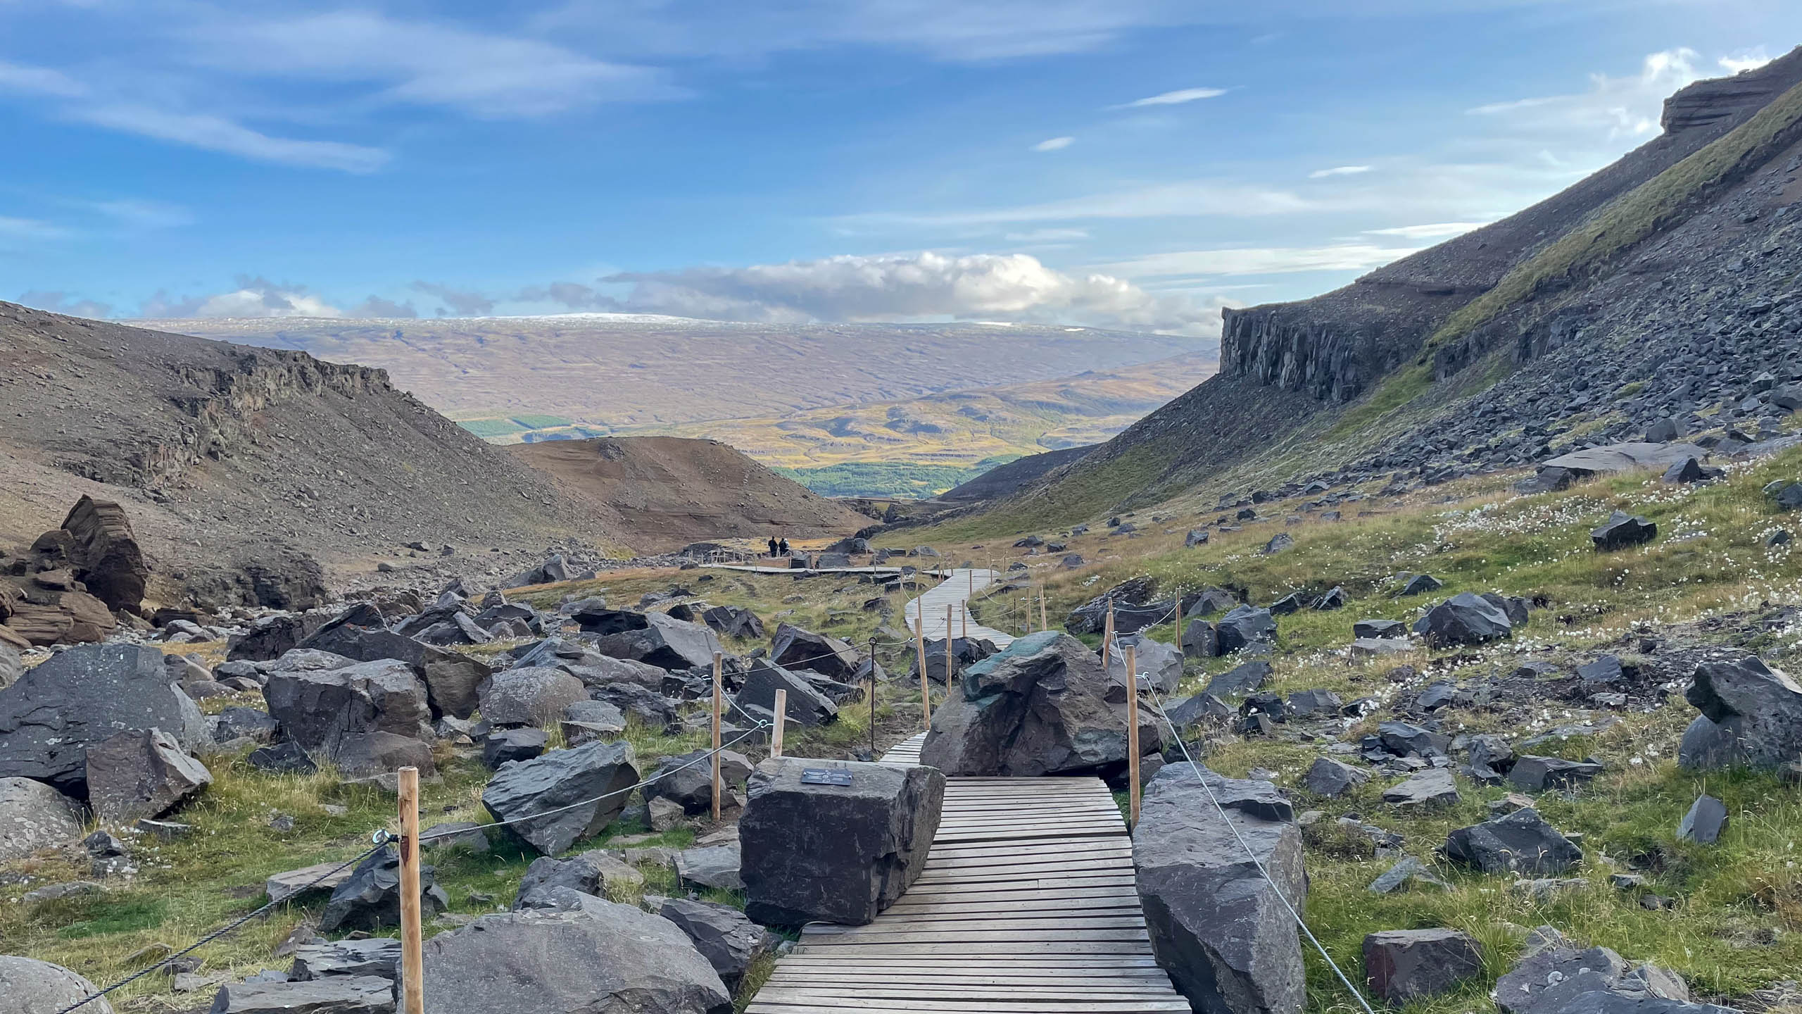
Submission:
[[[602,529],[633,532],[634,548],[649,552],[733,536],[843,536],[870,523],[717,440],[600,437],[506,451],[591,503]]]

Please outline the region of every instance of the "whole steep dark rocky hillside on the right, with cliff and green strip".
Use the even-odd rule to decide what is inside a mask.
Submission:
[[[1382,473],[1436,482],[1665,420],[1723,438],[1775,429],[1788,410],[1768,392],[1797,366],[1802,328],[1798,83],[1802,51],[1699,81],[1667,101],[1660,137],[1519,215],[1315,300],[1227,310],[1218,377],[998,518]]]

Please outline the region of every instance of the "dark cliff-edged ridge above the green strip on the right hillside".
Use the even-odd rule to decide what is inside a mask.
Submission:
[[[1616,197],[1726,135],[1797,83],[1802,83],[1802,49],[1757,70],[1697,81],[1665,101],[1663,134],[1532,207],[1312,300],[1222,310],[1220,375],[1332,402],[1366,393],[1415,359],[1447,316],[1494,289],[1515,265]],[[1515,361],[1537,357],[1568,337],[1550,327],[1553,334],[1519,334],[1517,325],[1503,323],[1452,343],[1436,350],[1434,375],[1456,373],[1497,341],[1517,345]]]

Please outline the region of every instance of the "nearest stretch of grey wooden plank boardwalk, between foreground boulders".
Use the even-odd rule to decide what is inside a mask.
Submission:
[[[921,736],[883,756],[917,763]],[[1151,958],[1132,843],[1096,778],[953,778],[919,880],[802,929],[748,1014],[1186,1012]]]

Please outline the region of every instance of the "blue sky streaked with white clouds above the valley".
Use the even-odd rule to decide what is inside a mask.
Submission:
[[[1793,0],[0,0],[0,298],[1215,334],[1797,43]]]

